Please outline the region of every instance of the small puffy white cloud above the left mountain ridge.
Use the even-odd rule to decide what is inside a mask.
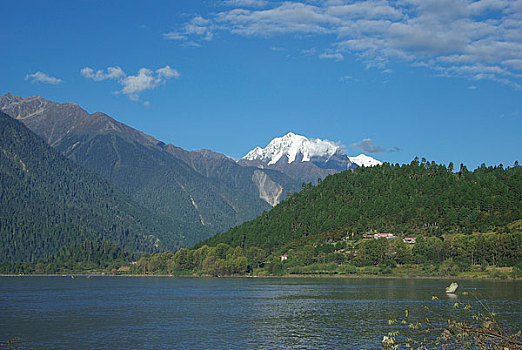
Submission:
[[[122,86],[117,93],[125,94],[133,101],[139,100],[140,92],[155,89],[168,79],[179,78],[178,71],[168,65],[158,68],[156,71],[140,68],[136,75],[127,75],[120,67],[108,67],[106,71],[98,70],[96,72],[90,67],[85,67],[80,72],[85,78],[94,81],[116,80]],[[150,103],[145,102],[145,106],[148,105]]]

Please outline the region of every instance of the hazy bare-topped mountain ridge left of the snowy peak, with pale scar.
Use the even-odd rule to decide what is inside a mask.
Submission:
[[[169,218],[175,223],[170,231],[183,236],[185,246],[253,219],[298,189],[278,172],[241,167],[214,152],[166,145],[73,103],[6,94],[0,96],[0,109],[140,205]]]

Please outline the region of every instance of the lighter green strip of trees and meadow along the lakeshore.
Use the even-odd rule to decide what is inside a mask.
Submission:
[[[522,277],[522,233],[367,239],[304,245],[278,253],[258,247],[219,243],[176,253],[142,256],[131,271],[137,274],[185,275],[394,275]]]

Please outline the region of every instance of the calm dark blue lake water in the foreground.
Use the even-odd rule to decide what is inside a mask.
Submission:
[[[374,349],[387,320],[455,311],[451,280],[0,277],[0,342],[28,349]],[[511,329],[522,282],[458,281]],[[440,299],[431,300],[432,295]],[[454,315],[455,316],[455,315]],[[8,347],[9,349],[16,347]]]

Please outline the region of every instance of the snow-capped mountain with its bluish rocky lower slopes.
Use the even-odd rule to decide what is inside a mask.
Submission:
[[[276,137],[265,147],[256,147],[238,161],[245,166],[279,170],[305,182],[353,169],[360,165],[381,164],[364,154],[348,157],[341,147],[329,140],[312,139],[289,132]]]

